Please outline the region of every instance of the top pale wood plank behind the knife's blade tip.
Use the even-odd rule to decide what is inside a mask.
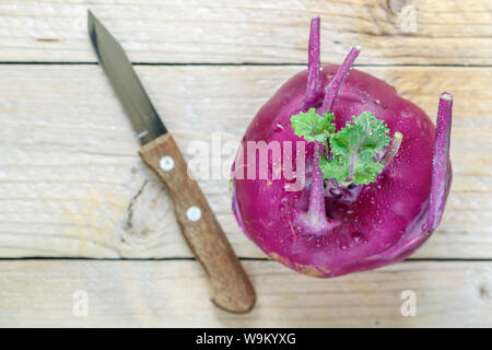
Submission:
[[[0,61],[95,61],[87,8],[139,62],[305,62],[320,15],[326,62],[492,63],[489,0],[3,1]]]

